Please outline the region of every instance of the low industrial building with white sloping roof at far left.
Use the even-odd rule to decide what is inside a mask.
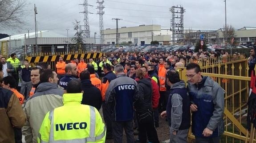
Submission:
[[[16,53],[20,59],[24,56],[65,54],[71,51],[71,45],[75,45],[71,38],[52,31],[38,31],[35,37],[35,32],[31,32],[0,39],[1,54]],[[85,44],[95,44],[95,41],[94,38],[86,38]],[[99,43],[99,39],[96,42]]]

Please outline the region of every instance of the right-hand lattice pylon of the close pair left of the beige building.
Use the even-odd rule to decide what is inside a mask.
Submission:
[[[105,13],[103,11],[103,8],[105,8],[104,5],[103,5],[104,0],[97,0],[97,3],[99,4],[97,6],[97,8],[99,9],[97,14],[100,17],[100,40],[101,40],[100,42],[101,42],[101,44],[104,44],[104,28],[103,28],[103,14]]]

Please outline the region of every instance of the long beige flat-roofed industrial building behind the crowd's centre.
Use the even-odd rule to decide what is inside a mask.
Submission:
[[[130,44],[145,45],[151,41],[158,41],[160,44],[171,43],[172,32],[170,29],[161,29],[161,25],[139,25],[136,27],[118,28],[118,40],[116,39],[116,29],[104,30],[104,44]]]

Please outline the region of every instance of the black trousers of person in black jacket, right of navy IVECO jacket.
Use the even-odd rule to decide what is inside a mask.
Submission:
[[[150,137],[150,142],[159,143],[157,131],[154,127],[153,112],[138,116],[138,127],[140,143],[147,143],[147,136]]]

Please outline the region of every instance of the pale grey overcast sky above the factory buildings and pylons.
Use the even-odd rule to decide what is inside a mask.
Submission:
[[[88,0],[90,37],[99,35],[99,15],[97,0]],[[26,28],[35,29],[34,4],[37,7],[38,31],[49,30],[69,37],[73,36],[75,19],[83,24],[82,4],[84,0],[27,0],[26,24],[21,29],[5,30],[0,33],[15,35],[27,32]],[[120,18],[118,27],[134,27],[141,24],[159,24],[163,28],[170,27],[173,5],[182,5],[185,28],[218,29],[225,24],[225,4],[223,0],[105,0],[103,15],[104,29],[115,28],[112,18]],[[236,29],[256,27],[256,0],[227,0],[227,23]]]

